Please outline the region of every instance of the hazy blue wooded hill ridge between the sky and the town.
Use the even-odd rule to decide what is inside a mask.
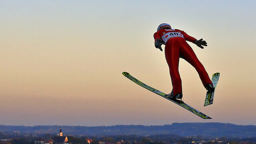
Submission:
[[[211,136],[251,138],[256,136],[256,126],[242,126],[225,123],[173,123],[164,126],[116,125],[116,126],[4,126],[0,132],[24,134],[57,134],[62,129],[66,135],[130,135],[176,134],[179,136]]]

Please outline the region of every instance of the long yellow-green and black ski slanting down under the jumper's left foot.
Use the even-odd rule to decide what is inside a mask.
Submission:
[[[175,104],[178,104],[179,106],[185,108],[186,110],[196,114],[197,116],[199,116],[200,118],[203,119],[212,119],[209,116],[206,116],[205,114],[203,114],[202,112],[199,112],[198,110],[196,110],[195,108],[192,108],[191,106],[189,106],[188,104],[185,104],[184,102],[180,101],[180,100],[176,100],[176,99],[170,99],[167,98],[165,95],[165,93],[160,92],[159,90],[156,90],[155,88],[152,88],[146,84],[144,84],[143,82],[141,82],[140,80],[134,78],[133,76],[131,76],[128,72],[123,72],[122,73],[124,76],[126,76],[126,78],[129,78],[130,80],[132,80],[133,82],[135,82],[136,84],[142,86],[143,88],[146,88],[147,90],[150,90],[151,92],[154,92],[155,94],[158,94],[159,96],[162,96],[172,102],[174,102]]]

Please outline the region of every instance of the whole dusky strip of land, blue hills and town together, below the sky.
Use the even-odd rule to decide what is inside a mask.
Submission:
[[[256,126],[222,123],[96,127],[0,125],[0,144],[256,144]]]

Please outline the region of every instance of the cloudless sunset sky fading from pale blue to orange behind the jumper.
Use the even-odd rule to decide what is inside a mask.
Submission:
[[[256,125],[255,0],[1,0],[0,125]],[[180,60],[184,101],[203,120],[138,86],[129,72],[172,90],[161,23],[208,43],[188,42],[209,76],[220,72],[214,104],[196,70]],[[162,46],[164,48],[164,46]]]

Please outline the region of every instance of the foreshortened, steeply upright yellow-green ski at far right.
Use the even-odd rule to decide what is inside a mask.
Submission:
[[[215,74],[212,75],[212,84],[213,84],[213,87],[214,87],[214,92],[216,90],[219,78],[220,78],[220,73],[219,72],[216,72]],[[206,97],[205,97],[205,100],[204,100],[204,106],[208,106],[210,104],[213,104],[214,92],[207,92],[206,93]]]

